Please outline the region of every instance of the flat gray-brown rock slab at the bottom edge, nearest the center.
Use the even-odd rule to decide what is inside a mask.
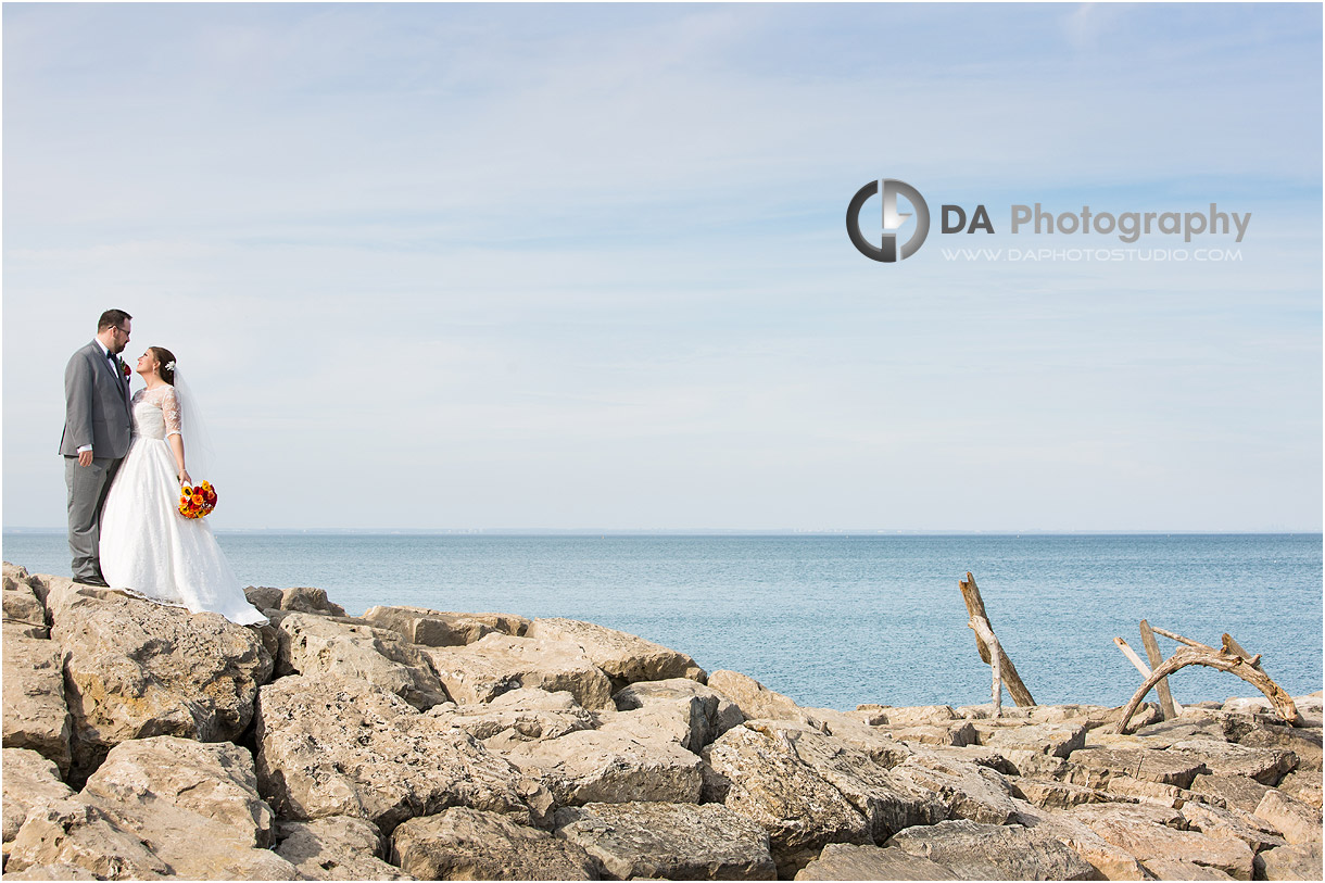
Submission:
[[[617,880],[776,876],[763,829],[716,803],[590,803],[559,809],[556,835],[584,849]]]

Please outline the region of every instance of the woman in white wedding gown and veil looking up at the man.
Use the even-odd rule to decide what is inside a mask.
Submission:
[[[211,610],[241,626],[266,618],[244,597],[212,529],[179,513],[184,468],[175,357],[150,346],[138,359],[147,383],[132,398],[134,436],[101,514],[101,566],[111,589],[150,601]]]

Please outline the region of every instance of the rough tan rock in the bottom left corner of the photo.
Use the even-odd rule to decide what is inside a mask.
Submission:
[[[32,810],[11,845],[4,870],[7,878],[30,870],[34,872],[32,879],[76,879],[76,874],[64,876],[61,872],[60,868],[68,866],[102,880],[174,876],[174,868],[143,838],[77,798]],[[46,874],[40,868],[46,868]]]

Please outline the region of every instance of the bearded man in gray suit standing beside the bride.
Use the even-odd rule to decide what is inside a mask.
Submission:
[[[65,457],[69,488],[69,552],[74,581],[105,586],[97,545],[101,506],[110,480],[129,452],[129,371],[119,354],[129,343],[130,320],[125,310],[106,310],[97,322],[97,338],[69,359],[65,369]]]

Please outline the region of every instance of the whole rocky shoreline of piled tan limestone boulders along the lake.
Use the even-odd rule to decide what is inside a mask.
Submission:
[[[4,565],[13,879],[1321,879],[1321,693],[802,708],[567,619]]]

